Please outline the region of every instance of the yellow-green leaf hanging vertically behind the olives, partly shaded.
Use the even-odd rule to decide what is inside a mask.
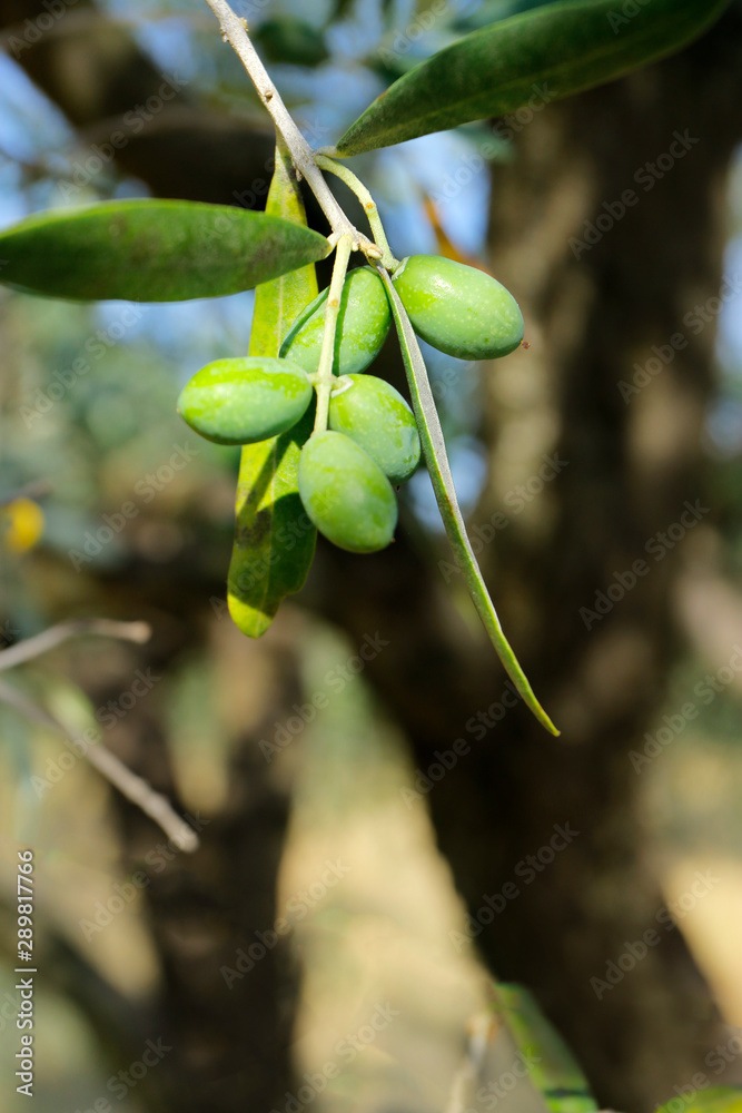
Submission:
[[[301,195],[288,155],[276,149],[266,211],[306,224]],[[258,286],[250,355],[276,356],[294,317],[317,296],[314,264]],[[243,449],[237,482],[235,545],[229,565],[229,613],[243,633],[259,638],[281,600],[307,578],[317,531],[301,505],[299,453],[311,432],[314,403],[288,433]]]

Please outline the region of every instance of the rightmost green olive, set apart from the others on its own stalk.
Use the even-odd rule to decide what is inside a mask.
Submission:
[[[509,290],[483,270],[438,255],[410,255],[393,275],[418,336],[458,359],[497,359],[523,339]]]

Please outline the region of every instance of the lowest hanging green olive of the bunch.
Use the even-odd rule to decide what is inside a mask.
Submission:
[[[313,523],[338,549],[385,549],[397,524],[397,500],[386,475],[364,450],[326,430],[299,456],[299,495]]]

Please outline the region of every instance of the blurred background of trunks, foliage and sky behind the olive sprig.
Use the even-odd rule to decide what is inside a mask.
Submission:
[[[422,58],[535,6],[236,9],[324,146]],[[205,6],[2,0],[0,28],[2,226],[149,195],[263,207],[269,121]],[[201,838],[180,853],[0,705],[2,1109],[21,1101],[24,846],[39,1113],[457,1110],[495,978],[528,987],[603,1107],[742,1081],[741,97],[732,3],[629,79],[350,164],[397,257],[487,267],[523,308],[530,347],[497,364],[426,354],[479,561],[558,739],[513,706],[424,471],[387,551],[320,540],[259,642],[233,627],[238,453],[175,402],[247,349],[253,294],[0,290],[2,646],[80,617],[152,627],[8,683],[93,725]],[[393,342],[376,373],[404,390]],[[497,1106],[525,1107],[506,1087],[461,1107]]]

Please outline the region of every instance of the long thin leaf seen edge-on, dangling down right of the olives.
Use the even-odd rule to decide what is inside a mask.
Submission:
[[[417,418],[423,455],[425,456],[425,463],[427,464],[436,502],[438,503],[438,510],[441,511],[441,518],[443,519],[446,536],[453,549],[454,558],[462,570],[474,605],[484,623],[485,630],[489,634],[499,660],[505,667],[505,671],[523,697],[526,706],[533,711],[542,726],[553,735],[558,735],[558,730],[536,699],[523,669],[517,662],[515,653],[503,633],[497,612],[489,598],[489,592],[487,591],[479,565],[474,555],[474,550],[472,549],[472,543],[466,533],[466,525],[464,524],[458,505],[454,479],[451,474],[448,456],[446,455],[441,420],[435,408],[433,391],[431,390],[425,361],[423,359],[417,337],[389,275],[382,267],[379,267],[379,274],[386,286],[392,315],[399,336],[399,346],[409,384],[413,410]]]

